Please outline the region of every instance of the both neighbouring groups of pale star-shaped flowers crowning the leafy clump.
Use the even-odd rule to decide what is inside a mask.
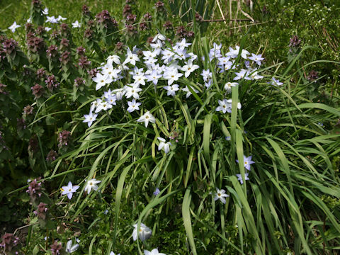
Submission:
[[[118,55],[108,56],[106,63],[97,68],[100,72],[96,74],[93,81],[96,83],[96,90],[113,83],[115,83],[115,86],[105,91],[101,98],[97,98],[91,103],[89,114],[84,115],[84,123],[88,123],[90,127],[99,112],[108,111],[113,106],[116,106],[117,101],[122,101],[123,99],[123,108],[126,108],[129,113],[139,111],[142,102],[138,101],[144,92],[143,88],[150,84],[154,85],[155,91],[159,88],[164,89],[167,96],[174,97],[180,91],[183,91],[186,98],[190,97],[192,93],[200,93],[204,87],[206,89],[210,88],[212,85],[212,72],[210,72],[210,69],[203,69],[198,64],[195,64],[198,56],[193,52],[189,52],[188,47],[191,43],[183,39],[181,42],[176,42],[173,47],[166,47],[165,41],[164,35],[158,34],[150,44],[151,50],[140,51],[135,46],[132,50],[129,47],[127,48],[124,60],[121,60]],[[235,69],[232,72],[232,81],[228,81],[224,86],[226,94],[232,91],[233,86],[239,85],[236,81],[263,78],[259,74],[259,67],[261,67],[261,62],[264,60],[261,54],[255,55],[247,50],[240,50],[239,46],[235,48],[229,47],[229,51],[225,54],[222,54],[221,49],[222,44],[217,45],[214,42],[209,51],[209,61],[215,63],[215,69],[220,73]],[[239,56],[244,59],[243,68],[241,64],[236,62]],[[193,87],[188,88],[188,86],[181,87],[179,84],[182,79],[188,78],[197,69],[202,70],[200,76],[203,77],[204,87],[199,85],[196,89]],[[159,81],[165,81],[166,84],[161,86]],[[271,83],[272,85],[282,84],[274,78],[272,81],[275,81],[275,84]],[[127,106],[125,103],[127,103]],[[222,111],[222,113],[232,112],[232,99],[218,100],[218,104],[216,111]],[[237,102],[237,108],[241,109],[241,103]],[[144,122],[145,128],[147,128],[149,122],[156,122],[156,118],[150,111],[146,109],[144,111],[146,112],[137,119],[137,122]],[[159,150],[164,149],[164,152],[168,153],[171,144],[160,139]]]

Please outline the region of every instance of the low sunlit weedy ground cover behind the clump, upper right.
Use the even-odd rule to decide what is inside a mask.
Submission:
[[[210,31],[225,42],[240,40],[248,32],[249,47],[261,47],[266,61],[271,63],[290,62],[293,56],[290,45],[312,46],[300,55],[300,66],[315,60],[339,62],[339,1],[220,1],[220,4],[221,11],[217,8],[212,20],[225,22],[216,22]],[[319,84],[310,89],[311,99],[322,100],[319,91],[339,94],[339,65],[319,62],[307,65],[301,72],[302,79],[310,74],[323,74]]]

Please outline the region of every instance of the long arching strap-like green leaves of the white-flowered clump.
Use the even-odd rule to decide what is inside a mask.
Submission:
[[[196,43],[196,46],[203,47],[200,42]],[[208,52],[205,52],[206,57],[207,54]],[[292,65],[288,66],[288,69],[283,70],[283,73],[288,74],[292,67]],[[215,77],[220,79],[217,73],[215,73]],[[285,81],[290,81],[290,79],[289,76],[284,77]],[[232,137],[230,144],[217,138],[225,133],[225,128],[222,128],[225,124],[219,120],[218,115],[210,113],[216,106],[208,94],[200,96],[202,98],[200,103],[176,101],[176,105],[171,109],[167,106],[169,99],[161,94],[159,101],[162,103],[151,110],[154,114],[161,113],[160,117],[162,118],[162,111],[159,109],[167,109],[165,110],[167,122],[157,123],[159,128],[154,125],[154,130],[145,130],[143,126],[135,125],[131,122],[130,117],[125,115],[128,122],[123,125],[110,122],[105,122],[100,126],[94,125],[94,128],[86,131],[86,134],[80,139],[84,140],[81,147],[65,156],[69,159],[80,157],[85,160],[87,155],[90,156],[93,152],[98,151],[98,146],[103,145],[105,149],[99,150],[100,153],[91,167],[88,178],[94,176],[95,173],[101,175],[103,178],[101,188],[104,189],[108,188],[109,180],[113,176],[115,179],[119,176],[115,191],[115,227],[119,225],[118,215],[122,213],[121,206],[128,203],[129,199],[137,199],[137,193],[140,191],[145,193],[147,180],[151,176],[157,180],[157,186],[159,183],[168,184],[164,188],[167,194],[162,196],[164,201],[168,196],[174,196],[173,189],[183,190],[183,184],[174,179],[174,176],[179,176],[179,179],[186,180],[184,181],[186,192],[183,198],[182,215],[193,254],[198,252],[196,251],[197,241],[195,241],[193,233],[197,232],[198,222],[202,221],[200,219],[202,209],[204,210],[211,200],[207,196],[208,183],[212,183],[213,186],[227,183],[227,186],[222,186],[222,188],[226,187],[232,195],[228,205],[221,208],[220,215],[215,215],[215,210],[210,213],[214,215],[213,217],[220,217],[221,222],[217,231],[218,235],[222,236],[222,240],[225,240],[223,226],[226,222],[236,222],[239,229],[242,229],[242,231],[239,230],[238,242],[241,253],[247,253],[248,251],[245,249],[254,249],[256,254],[263,254],[268,250],[273,253],[282,253],[286,249],[293,249],[292,242],[302,245],[295,246],[295,253],[318,254],[322,249],[320,245],[326,243],[323,249],[330,251],[332,246],[339,245],[339,222],[336,220],[338,212],[331,212],[327,209],[327,205],[322,201],[322,196],[339,198],[340,189],[337,185],[339,177],[330,164],[331,159],[326,152],[330,152],[334,147],[338,148],[340,143],[335,139],[339,135],[328,135],[316,123],[324,120],[335,121],[336,118],[339,118],[340,111],[324,104],[311,103],[303,97],[307,91],[302,84],[290,84],[290,82],[287,84],[285,89],[272,87],[269,89],[270,92],[265,83],[261,86],[251,86],[250,83],[244,81],[240,86],[240,91],[237,87],[233,88],[233,101],[237,102],[239,97],[243,107],[242,112],[236,111],[236,107],[234,107],[230,117],[225,116],[225,122],[230,125],[229,131],[227,131]],[[217,88],[213,89],[212,93],[217,95],[219,85],[216,86]],[[261,103],[259,103],[259,98],[261,98]],[[280,98],[280,100],[275,98]],[[236,106],[236,103],[234,104]],[[205,106],[208,108],[208,114],[203,111]],[[169,132],[169,129],[165,127],[171,127],[170,118],[172,115],[178,115],[176,112],[183,115],[176,118],[176,123],[184,123],[182,124],[183,145],[191,149],[181,149],[182,156],[174,152],[171,152],[168,157],[153,156],[155,164],[152,164],[152,158],[149,157],[150,150],[154,150],[152,148],[154,148],[155,140],[152,137],[157,137],[158,132],[161,131]],[[192,115],[195,112],[196,117],[193,119]],[[105,121],[105,119],[101,118],[101,121]],[[118,137],[111,137],[111,132],[107,132],[107,130],[113,130],[113,132],[120,130],[118,134],[122,131],[127,133],[124,136],[121,133]],[[98,137],[101,137],[99,143]],[[199,141],[200,137],[203,137],[202,143],[195,142]],[[145,149],[141,150],[140,145],[143,145]],[[114,157],[115,160],[111,160],[112,154],[109,152],[113,147],[125,153]],[[311,149],[313,147],[314,149]],[[114,152],[115,149],[112,153]],[[152,154],[154,155],[154,152]],[[256,166],[251,171],[251,181],[245,182],[241,186],[234,176],[241,173],[244,178],[244,154],[251,154]],[[200,159],[200,162],[193,163],[191,161],[193,157]],[[104,159],[107,163],[100,165],[99,162],[103,162]],[[239,159],[239,164],[235,164],[234,159]],[[123,169],[122,164],[125,165]],[[113,166],[112,171],[104,171],[104,169],[112,169]],[[202,167],[203,169],[201,169]],[[186,169],[186,171],[182,169]],[[135,176],[144,176],[145,172],[148,176],[146,180],[143,178],[140,180],[142,182],[135,180]],[[190,205],[192,196],[198,191],[192,191],[191,186],[186,187],[187,183],[193,182],[194,173],[200,173],[198,177],[206,186],[204,200],[196,201],[200,206]],[[125,185],[131,185],[131,189],[125,188],[125,195],[123,195]],[[94,194],[91,198],[93,196]],[[124,196],[128,200],[124,201]],[[80,199],[81,195],[79,195],[77,203],[80,202]],[[151,215],[147,217],[146,213],[151,212],[152,208],[160,202],[161,200],[158,202],[157,199],[150,202],[142,210],[138,222],[145,222],[147,218],[152,217]],[[75,207],[78,209],[74,217],[84,210],[86,200],[78,206],[77,203]],[[212,206],[217,207],[217,205]],[[174,208],[174,203],[169,203],[169,208],[170,210]],[[169,213],[168,209],[162,208],[161,210],[165,215]],[[311,210],[315,214],[312,217]],[[143,216],[146,218],[143,219]],[[191,217],[196,218],[194,223]],[[312,222],[317,225],[332,226],[330,231],[334,235],[327,236],[323,233],[324,239],[320,241],[316,235],[311,234],[314,232],[314,228],[308,224]],[[160,222],[156,224],[160,225]],[[205,224],[207,223],[204,222],[203,225]],[[212,226],[210,225],[210,227]],[[210,229],[210,227],[208,228]],[[318,230],[320,231],[320,229]],[[245,239],[249,236],[252,238],[251,244],[254,248],[251,248],[249,240]],[[116,234],[114,240],[115,238]],[[201,242],[203,241],[201,240]],[[224,245],[226,244],[227,242]],[[244,245],[246,245],[245,248]]]

